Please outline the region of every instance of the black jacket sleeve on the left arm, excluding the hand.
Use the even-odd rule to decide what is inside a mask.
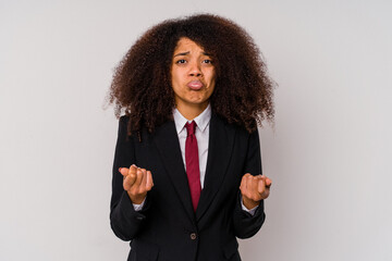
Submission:
[[[147,199],[142,211],[134,210],[132,201],[123,188],[123,176],[119,172],[119,167],[130,167],[136,163],[134,138],[126,134],[127,121],[126,116],[122,116],[119,121],[110,201],[110,225],[114,234],[122,240],[132,240],[137,235],[149,206]]]

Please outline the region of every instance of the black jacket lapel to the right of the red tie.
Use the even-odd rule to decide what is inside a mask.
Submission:
[[[232,154],[234,134],[234,128],[212,113],[205,185],[196,210],[196,221],[204,215],[223,182]]]

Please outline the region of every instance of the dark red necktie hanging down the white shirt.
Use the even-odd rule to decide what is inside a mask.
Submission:
[[[196,212],[197,203],[201,192],[197,139],[195,136],[196,123],[194,121],[191,124],[186,123],[185,127],[187,132],[185,141],[186,175],[191,189],[192,203]]]

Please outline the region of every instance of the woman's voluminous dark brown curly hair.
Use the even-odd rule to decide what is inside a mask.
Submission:
[[[170,67],[180,38],[189,38],[208,52],[216,69],[211,109],[248,132],[273,121],[273,86],[252,37],[234,22],[211,14],[167,20],[148,29],[114,71],[109,103],[114,114],[130,116],[128,134],[148,132],[172,120],[174,91]]]

